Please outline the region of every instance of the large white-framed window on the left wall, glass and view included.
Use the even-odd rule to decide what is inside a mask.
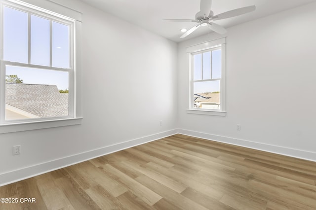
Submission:
[[[0,2],[0,125],[75,119],[77,21]]]

